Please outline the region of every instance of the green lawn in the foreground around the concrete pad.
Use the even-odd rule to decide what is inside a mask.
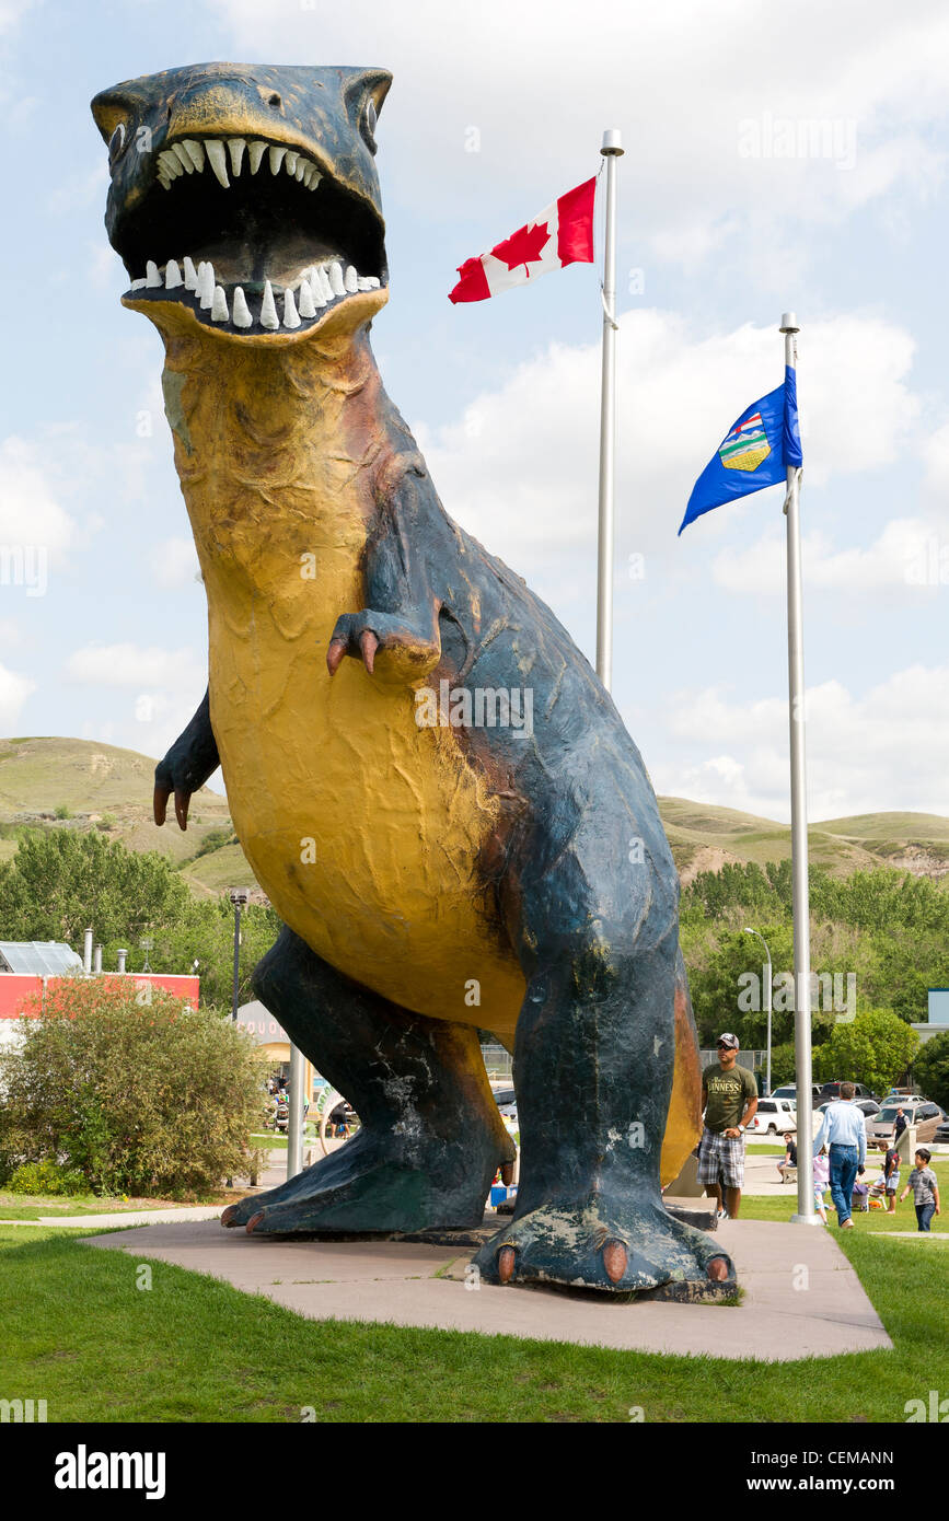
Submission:
[[[163,1262],[149,1264],[151,1291],[138,1290],[138,1264],[120,1253],[52,1227],[0,1227],[0,1387],[47,1399],[50,1421],[274,1422],[312,1405],[328,1422],[627,1422],[642,1405],[654,1422],[902,1422],[905,1402],[935,1378],[934,1348],[949,1340],[949,1253],[874,1240],[865,1220],[838,1240],[896,1352],[766,1369],[301,1320]]]

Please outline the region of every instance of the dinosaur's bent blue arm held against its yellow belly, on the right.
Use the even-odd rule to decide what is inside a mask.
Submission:
[[[377,526],[365,555],[368,605],[336,619],[327,649],[335,675],[344,656],[362,659],[370,675],[414,681],[441,659],[440,601],[432,590],[424,546],[435,491],[420,464],[409,465],[379,503]]]

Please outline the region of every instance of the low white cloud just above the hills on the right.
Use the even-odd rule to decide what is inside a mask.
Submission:
[[[742,703],[706,687],[675,694],[666,710],[666,751],[677,759],[652,757],[659,792],[789,817],[785,697]],[[809,687],[806,724],[811,821],[878,809],[949,812],[949,666],[909,666],[862,697],[840,681]],[[692,759],[683,760],[683,750]]]

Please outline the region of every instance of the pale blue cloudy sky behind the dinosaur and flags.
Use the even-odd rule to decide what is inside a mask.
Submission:
[[[120,306],[91,96],[210,59],[380,65],[373,342],[447,511],[595,656],[595,265],[452,306],[620,128],[616,703],[660,794],[789,817],[780,487],[677,529],[797,312],[812,820],[949,814],[941,0],[0,0],[0,733],[160,756],[207,610],[161,342]],[[221,786],[217,774],[213,783]]]

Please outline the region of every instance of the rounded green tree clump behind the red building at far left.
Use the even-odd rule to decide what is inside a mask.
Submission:
[[[187,884],[154,850],[140,855],[96,830],[23,835],[0,865],[5,940],[67,940],[91,925],[103,945],[173,923],[192,903]]]

